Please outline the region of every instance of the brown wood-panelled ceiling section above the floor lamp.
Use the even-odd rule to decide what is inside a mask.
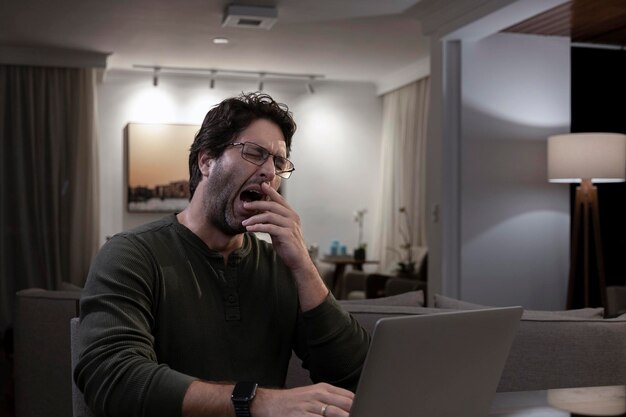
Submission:
[[[626,45],[625,0],[571,0],[506,32],[567,36],[572,42]]]

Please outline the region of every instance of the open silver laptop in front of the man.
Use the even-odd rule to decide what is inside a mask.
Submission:
[[[523,309],[380,319],[351,417],[486,417]]]

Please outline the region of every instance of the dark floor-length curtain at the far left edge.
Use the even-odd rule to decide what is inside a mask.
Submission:
[[[0,65],[0,326],[15,292],[82,285],[98,247],[95,70]]]

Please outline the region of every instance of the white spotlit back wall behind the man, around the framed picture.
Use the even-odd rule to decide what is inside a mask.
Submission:
[[[98,87],[102,241],[163,214],[129,213],[125,207],[124,127],[135,123],[201,124],[211,106],[256,81],[163,74],[157,88],[150,73],[110,71]],[[298,131],[291,160],[296,166],[285,193],[300,214],[305,238],[327,252],[332,239],[349,250],[357,228],[353,212],[367,208],[365,241],[371,242],[376,207],[382,100],[365,83],[316,82],[308,94],[296,82],[265,82],[265,92],[287,103]],[[186,164],[186,161],[182,163]]]

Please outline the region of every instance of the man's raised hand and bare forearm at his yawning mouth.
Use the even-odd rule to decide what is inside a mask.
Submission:
[[[245,202],[246,209],[258,214],[244,220],[242,224],[249,232],[268,233],[272,237],[274,250],[291,269],[296,280],[302,310],[310,310],[324,301],[328,289],[309,256],[300,216],[269,184],[261,184],[261,190],[270,200]]]

